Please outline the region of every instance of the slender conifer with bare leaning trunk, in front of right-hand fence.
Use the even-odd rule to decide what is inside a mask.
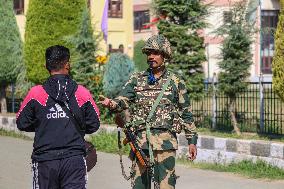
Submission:
[[[221,69],[218,74],[218,87],[229,97],[229,112],[234,131],[240,135],[235,116],[236,97],[248,86],[246,81],[252,64],[251,44],[254,27],[245,19],[246,1],[234,4],[230,11],[231,20],[218,29],[220,36],[226,36],[221,48],[222,61],[218,63]]]

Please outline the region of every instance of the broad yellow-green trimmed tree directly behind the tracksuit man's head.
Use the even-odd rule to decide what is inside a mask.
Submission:
[[[47,47],[64,45],[73,48],[64,37],[76,33],[86,6],[86,0],[29,1],[24,57],[30,81],[42,83],[48,77],[44,66]]]

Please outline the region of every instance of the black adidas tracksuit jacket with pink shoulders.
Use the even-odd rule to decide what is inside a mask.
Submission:
[[[64,102],[71,112],[67,112]],[[73,121],[72,114],[76,117]],[[80,133],[74,120],[80,125]],[[86,88],[68,75],[53,75],[29,91],[16,123],[21,131],[35,132],[32,159],[40,162],[84,155],[83,137],[98,130],[100,119]]]

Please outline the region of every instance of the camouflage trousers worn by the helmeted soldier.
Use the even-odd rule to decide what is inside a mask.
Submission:
[[[146,152],[147,154],[147,152]],[[153,151],[155,166],[154,180],[159,183],[160,189],[174,189],[176,184],[175,156],[176,150]],[[139,163],[136,163],[133,189],[150,189],[151,177]]]

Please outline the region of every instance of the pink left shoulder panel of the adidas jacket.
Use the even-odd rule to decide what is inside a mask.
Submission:
[[[20,113],[23,111],[23,109],[26,107],[26,105],[31,100],[36,100],[42,106],[46,106],[47,99],[48,99],[48,94],[45,92],[42,85],[37,85],[37,86],[32,87],[30,91],[28,92],[28,95],[26,96],[26,98],[21,104],[20,110],[17,113],[17,118],[19,117]]]

